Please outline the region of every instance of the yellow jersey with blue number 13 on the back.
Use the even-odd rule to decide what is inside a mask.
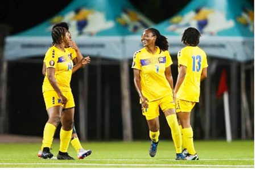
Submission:
[[[177,91],[176,98],[199,102],[202,70],[208,67],[207,55],[198,46],[186,46],[177,54],[178,67],[187,67],[187,73]]]

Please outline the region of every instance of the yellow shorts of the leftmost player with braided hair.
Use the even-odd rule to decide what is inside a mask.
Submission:
[[[74,101],[72,92],[65,91],[62,93],[68,99],[68,101],[65,105],[60,102],[59,96],[57,95],[56,91],[52,90],[52,91],[43,92],[44,103],[46,104],[46,109],[57,106],[57,105],[63,106],[63,109],[75,107],[75,101]]]

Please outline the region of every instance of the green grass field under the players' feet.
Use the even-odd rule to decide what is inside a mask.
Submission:
[[[92,150],[83,160],[39,159],[40,143],[0,143],[0,168],[254,168],[254,141],[195,141],[200,160],[175,160],[172,141],[160,141],[154,158],[148,155],[149,141],[87,142]],[[59,142],[52,145],[57,155]],[[76,158],[75,149],[68,152]]]

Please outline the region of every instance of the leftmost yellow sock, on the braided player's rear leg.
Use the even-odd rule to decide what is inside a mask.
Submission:
[[[42,151],[44,147],[51,148],[55,130],[56,130],[56,127],[52,124],[46,123],[46,126],[44,126],[44,135],[43,135],[43,141],[41,146]]]

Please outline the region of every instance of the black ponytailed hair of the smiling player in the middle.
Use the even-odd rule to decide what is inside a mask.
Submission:
[[[167,41],[167,37],[160,34],[158,29],[155,28],[147,28],[147,30],[150,30],[153,35],[156,36],[155,45],[159,47],[160,53],[161,51],[166,51],[169,48],[169,43]]]

